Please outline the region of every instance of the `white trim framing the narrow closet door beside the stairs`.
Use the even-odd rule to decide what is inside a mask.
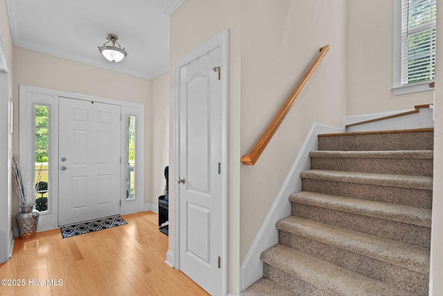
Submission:
[[[174,231],[170,233],[170,247],[174,246],[174,252],[168,251],[168,263],[174,268],[180,269],[180,196],[179,186],[174,182],[179,177],[179,147],[180,147],[180,125],[179,125],[179,70],[190,62],[197,60],[201,55],[220,47],[221,49],[221,291],[220,295],[227,295],[228,276],[228,38],[229,31],[224,30],[196,49],[184,55],[174,64],[174,172],[172,178],[174,184],[174,197],[170,200],[174,209]]]

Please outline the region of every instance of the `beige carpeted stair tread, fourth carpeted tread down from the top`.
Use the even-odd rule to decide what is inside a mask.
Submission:
[[[363,234],[296,216],[289,216],[278,221],[276,227],[284,232],[334,245],[402,268],[417,272],[429,270],[430,251],[426,247],[392,241],[389,238]]]

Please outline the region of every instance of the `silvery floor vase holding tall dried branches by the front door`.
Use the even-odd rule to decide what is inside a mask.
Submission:
[[[20,211],[15,215],[20,238],[32,238],[37,234],[40,213],[35,206],[40,175],[37,184],[29,180],[26,168],[20,163],[19,157],[12,157],[12,184],[19,200]]]

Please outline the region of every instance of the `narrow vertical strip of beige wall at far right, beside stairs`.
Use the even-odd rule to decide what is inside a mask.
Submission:
[[[437,15],[443,6],[437,5]],[[441,18],[440,18],[441,19]],[[443,22],[437,21],[437,32],[443,32]],[[443,33],[437,33],[437,61],[443,61]],[[435,66],[435,130],[434,151],[443,150],[443,64]],[[431,291],[429,295],[443,295],[443,155],[434,153],[434,189],[431,238]]]

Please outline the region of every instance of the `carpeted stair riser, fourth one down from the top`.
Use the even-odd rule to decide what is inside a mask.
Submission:
[[[406,223],[399,223],[380,218],[368,217],[358,214],[345,213],[314,207],[307,204],[292,202],[291,214],[321,223],[347,228],[356,232],[363,232],[403,241],[413,245],[428,247],[431,243],[431,229]]]

